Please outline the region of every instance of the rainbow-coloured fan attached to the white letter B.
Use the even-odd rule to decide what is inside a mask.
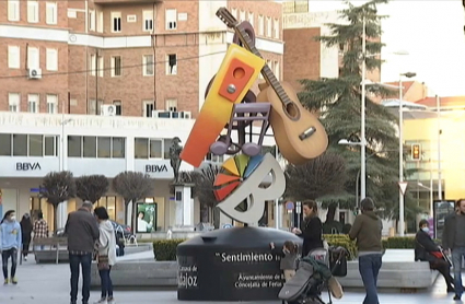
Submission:
[[[223,172],[214,178],[213,192],[217,200],[222,201],[231,195],[257,168],[263,159],[261,155],[248,157],[245,154],[228,159],[222,164]]]

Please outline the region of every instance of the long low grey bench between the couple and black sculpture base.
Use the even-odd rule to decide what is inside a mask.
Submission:
[[[96,262],[92,262],[91,287],[101,285]],[[177,262],[155,260],[121,260],[112,268],[114,288],[175,288]]]

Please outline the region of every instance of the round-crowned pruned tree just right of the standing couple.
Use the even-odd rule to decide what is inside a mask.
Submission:
[[[140,199],[152,195],[153,180],[150,175],[140,172],[125,171],[113,179],[113,189],[125,200],[125,223],[128,221],[128,206],[132,202],[131,229],[136,233],[137,206]]]

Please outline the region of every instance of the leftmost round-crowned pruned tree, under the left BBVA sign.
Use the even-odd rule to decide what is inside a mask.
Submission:
[[[75,197],[75,183],[69,171],[50,172],[42,180],[39,196],[54,206],[54,227],[58,229],[58,206]]]

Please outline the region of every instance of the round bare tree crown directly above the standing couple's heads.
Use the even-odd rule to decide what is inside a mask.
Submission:
[[[75,178],[75,196],[95,203],[108,191],[108,179],[104,175],[84,175]]]

